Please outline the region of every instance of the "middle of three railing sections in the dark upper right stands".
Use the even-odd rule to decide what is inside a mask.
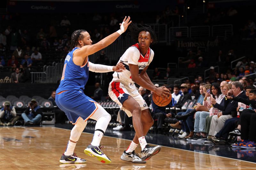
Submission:
[[[190,37],[210,37],[210,26],[191,26]]]

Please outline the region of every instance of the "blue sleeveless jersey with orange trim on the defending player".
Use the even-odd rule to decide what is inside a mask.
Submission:
[[[73,53],[77,49],[79,48],[75,47],[70,51],[65,59],[60,85],[56,93],[65,90],[84,90],[84,86],[89,78],[89,59],[82,66],[76,65],[73,62]]]

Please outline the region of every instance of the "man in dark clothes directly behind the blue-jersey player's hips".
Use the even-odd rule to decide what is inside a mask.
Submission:
[[[60,108],[56,105],[55,95],[56,95],[56,92],[53,91],[51,94],[51,97],[49,97],[48,100],[50,100],[52,102],[53,106],[56,106],[56,108],[54,109],[56,123],[64,124],[68,120],[68,118],[65,115],[65,112],[60,110]]]

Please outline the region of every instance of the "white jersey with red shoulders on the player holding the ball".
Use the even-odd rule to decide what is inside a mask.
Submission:
[[[132,45],[124,52],[124,54],[118,61],[118,63],[124,63],[126,70],[123,70],[122,72],[114,72],[113,81],[121,79],[129,83],[134,83],[132,81],[129,64],[138,65],[140,74],[140,72],[152,62],[153,57],[154,51],[152,49],[148,48],[147,54],[144,56],[140,52],[140,47],[138,43]]]

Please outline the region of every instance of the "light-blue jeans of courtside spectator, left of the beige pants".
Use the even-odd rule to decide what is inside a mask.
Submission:
[[[205,118],[210,115],[209,112],[196,112],[194,132],[205,132]]]

